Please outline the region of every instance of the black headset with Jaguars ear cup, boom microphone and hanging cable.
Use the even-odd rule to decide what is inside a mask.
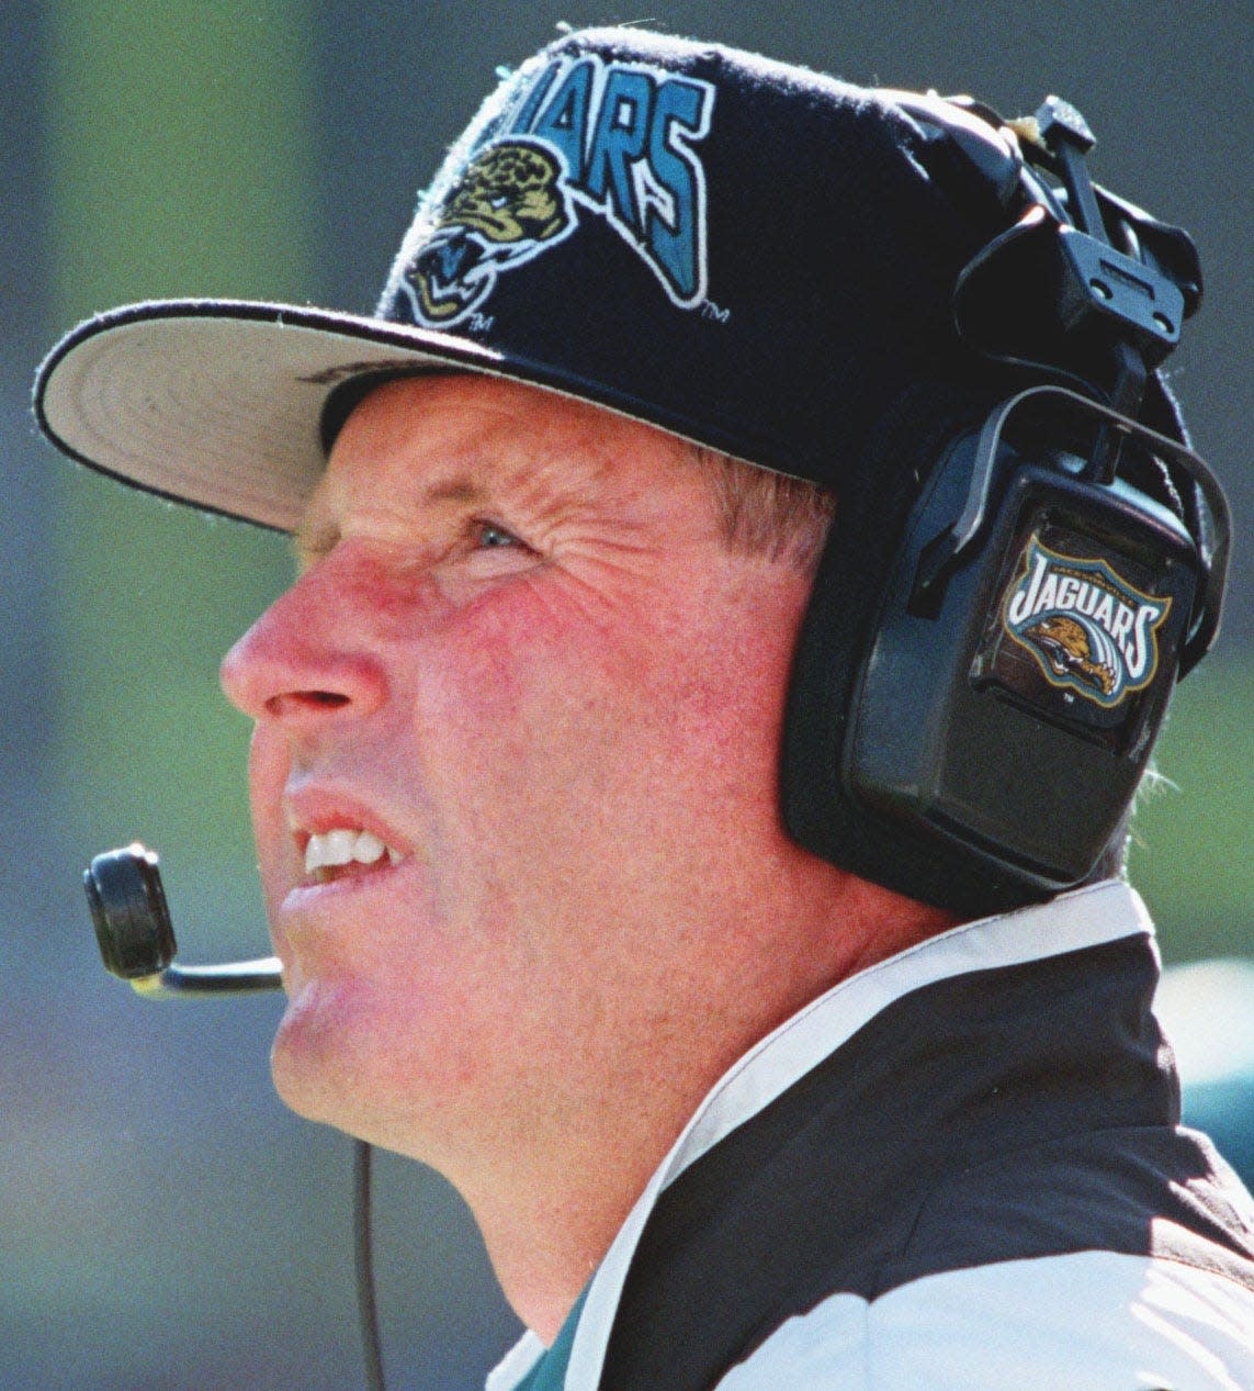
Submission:
[[[920,384],[873,433],[802,623],[781,803],[816,854],[980,915],[1083,883],[1118,839],[1175,682],[1218,630],[1230,520],[1158,376],[1201,298],[1187,234],[1090,182],[1093,135],[1057,97],[1007,124],[884,95],[936,177],[1008,224],[954,291],[1000,389]],[[142,995],[281,986],[274,957],[175,961],[143,846],[97,855],[85,886],[104,965]],[[381,1388],[364,1142],[355,1189]]]

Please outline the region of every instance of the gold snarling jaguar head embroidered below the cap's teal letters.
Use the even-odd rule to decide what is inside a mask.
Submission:
[[[574,227],[563,167],[546,146],[499,140],[463,168],[434,216],[405,285],[418,323],[448,327],[492,292],[496,277]]]

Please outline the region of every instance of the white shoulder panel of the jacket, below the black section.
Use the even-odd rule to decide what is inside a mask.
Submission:
[[[719,1391],[1239,1391],[1254,1289],[1107,1251],[948,1270],[877,1299],[833,1295],[781,1324]]]

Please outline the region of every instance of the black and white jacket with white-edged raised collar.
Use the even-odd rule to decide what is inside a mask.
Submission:
[[[641,1195],[567,1391],[1254,1391],[1254,1203],[1179,1124],[1157,978],[1108,882],[815,1000]]]

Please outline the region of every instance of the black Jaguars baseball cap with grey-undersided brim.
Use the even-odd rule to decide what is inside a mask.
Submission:
[[[103,473],[278,530],[325,465],[336,388],[431,369],[563,392],[838,490],[911,381],[975,373],[951,292],[1005,224],[990,181],[891,93],[581,31],[484,103],[374,314],[124,306],[53,349],[35,409]]]

